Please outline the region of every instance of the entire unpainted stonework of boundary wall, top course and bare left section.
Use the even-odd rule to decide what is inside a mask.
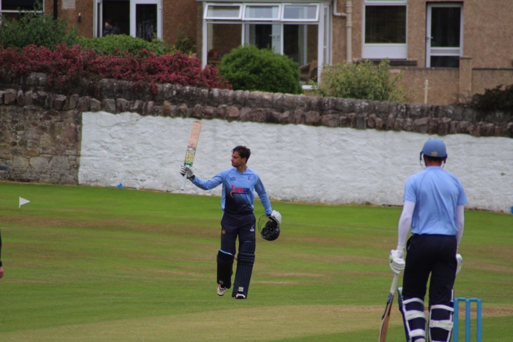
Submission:
[[[82,112],[227,121],[513,137],[511,113],[460,106],[417,105],[163,84],[151,96],[132,83],[102,80],[91,96],[52,92],[46,75],[0,79],[0,178],[77,184]]]

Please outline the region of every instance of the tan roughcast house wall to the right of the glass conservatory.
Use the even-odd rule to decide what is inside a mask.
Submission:
[[[425,68],[426,9],[428,3],[455,1],[408,1],[408,60],[416,67],[398,67],[410,101],[424,103],[428,81],[427,103],[450,104],[468,99],[472,94],[498,85],[513,84],[513,25],[510,13],[513,2],[505,0],[463,0],[463,57],[459,69]],[[338,10],[346,10],[347,0],[339,0]],[[362,58],[363,0],[352,1],[352,60]],[[345,17],[333,19],[334,64],[345,58]]]

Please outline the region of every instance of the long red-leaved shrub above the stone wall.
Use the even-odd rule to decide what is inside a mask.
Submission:
[[[53,51],[35,45],[0,46],[0,73],[16,78],[31,72],[47,74],[48,85],[68,92],[83,78],[93,86],[104,78],[132,81],[138,87],[149,86],[152,96],[156,94],[157,83],[230,89],[217,69],[212,66],[202,69],[199,59],[180,51],[162,56],[147,50],[107,55],[83,50],[79,45],[59,45]]]

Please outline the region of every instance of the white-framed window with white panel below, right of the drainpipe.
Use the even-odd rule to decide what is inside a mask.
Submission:
[[[364,0],[362,58],[407,58],[406,5],[406,0]]]

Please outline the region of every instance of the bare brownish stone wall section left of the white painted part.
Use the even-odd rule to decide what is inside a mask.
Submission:
[[[0,164],[11,167],[0,179],[76,185],[81,122],[77,110],[0,105]]]

